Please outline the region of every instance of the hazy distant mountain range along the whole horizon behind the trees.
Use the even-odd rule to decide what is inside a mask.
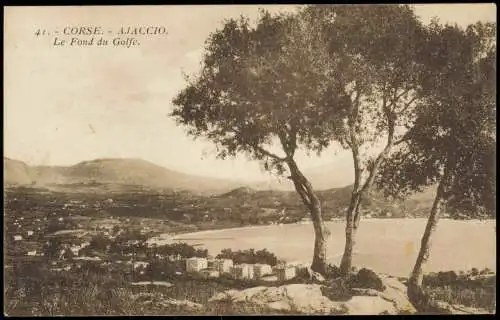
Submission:
[[[349,170],[352,171],[346,166],[339,168],[336,163],[332,163],[304,170],[304,173],[320,195],[345,206],[352,189]],[[141,159],[96,159],[73,166],[29,166],[22,161],[4,157],[4,184],[50,186],[62,190],[84,188],[79,190],[88,192],[133,191],[141,188],[185,190],[219,194],[240,200],[253,196],[270,199],[286,196],[298,199],[293,184],[288,179],[270,179],[267,182],[245,184],[189,175]],[[287,192],[282,194],[282,191]],[[411,202],[412,207],[427,208],[429,203],[432,204],[434,194],[435,187],[429,187],[424,192],[409,197],[406,202]]]

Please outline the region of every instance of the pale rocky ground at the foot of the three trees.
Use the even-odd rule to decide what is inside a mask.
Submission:
[[[161,304],[183,314],[309,314],[309,315],[401,315],[418,313],[408,300],[406,285],[389,275],[378,275],[381,285],[349,288],[339,294],[340,280],[291,283],[227,290],[215,294],[206,304],[141,294],[147,304]],[[156,302],[154,302],[156,301]],[[437,301],[435,313],[486,314],[486,310]]]

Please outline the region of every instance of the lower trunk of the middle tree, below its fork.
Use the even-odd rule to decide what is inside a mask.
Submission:
[[[359,204],[361,197],[353,191],[351,203],[346,213],[345,248],[340,262],[340,274],[347,276],[352,269],[352,254],[356,243],[356,232],[359,225]]]

